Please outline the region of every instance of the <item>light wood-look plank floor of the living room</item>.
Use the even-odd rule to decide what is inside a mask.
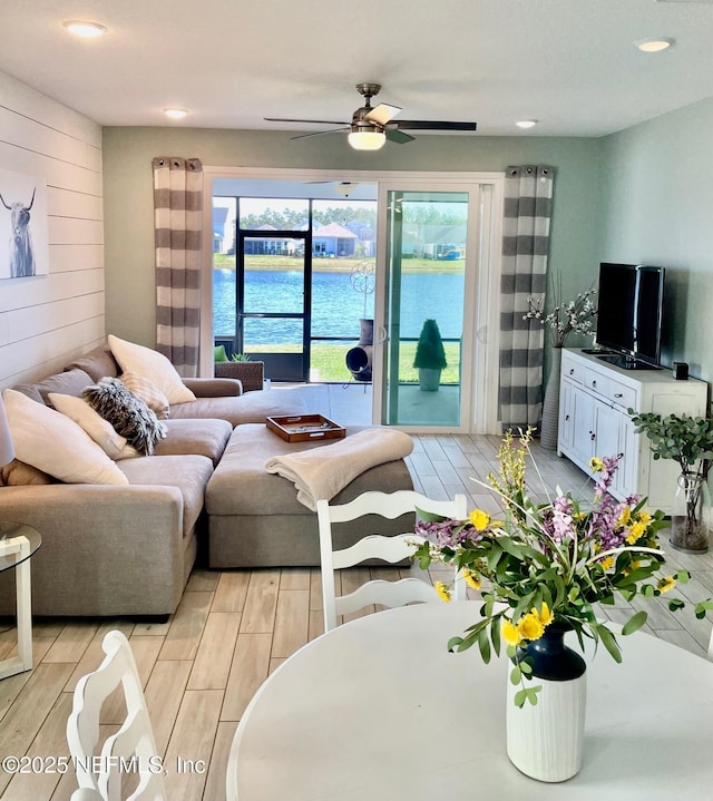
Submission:
[[[496,466],[499,438],[420,436],[414,443],[408,461],[419,490],[434,498],[465,491],[472,505],[497,509],[492,495],[471,477],[484,480]],[[584,475],[570,462],[534,450],[546,485],[589,495]],[[692,572],[693,580],[681,588],[688,599],[713,594],[711,555],[670,551],[668,559]],[[342,578],[352,583],[358,575],[361,578],[358,572]],[[709,622],[696,621],[690,609],[674,616],[664,604],[647,603],[646,608],[651,634],[704,655]],[[621,608],[611,610],[614,619],[625,615]],[[196,569],[176,614],[160,625],[36,621],[36,667],[0,682],[0,756],[68,756],[65,725],[71,693],[78,677],[99,664],[101,638],[110,628],[130,638],[158,749],[170,771],[168,797],[223,801],[231,740],[251,696],[271,671],[322,633],[319,570]],[[0,633],[0,658],[10,653],[13,637],[13,631]],[[191,760],[201,770],[178,773],[177,760]],[[75,787],[72,771],[0,772],[2,801],[67,801]]]

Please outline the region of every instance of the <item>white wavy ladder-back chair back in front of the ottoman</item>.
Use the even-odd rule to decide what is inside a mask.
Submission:
[[[375,579],[346,595],[338,596],[335,592],[334,570],[352,567],[367,559],[382,559],[391,564],[408,559],[423,539],[412,530],[390,537],[370,534],[349,548],[334,550],[332,524],[355,520],[365,515],[379,515],[393,520],[417,509],[459,520],[468,516],[465,495],[457,495],[453,500],[432,500],[412,490],[400,490],[391,494],[364,492],[349,504],[334,506],[330,506],[328,500],[318,500],[325,632],[336,626],[339,615],[349,615],[371,604],[393,607],[416,600],[440,600],[433,585],[419,578],[402,578],[400,582]],[[453,575],[453,580],[455,597],[465,598],[465,583],[458,580],[457,575]]]

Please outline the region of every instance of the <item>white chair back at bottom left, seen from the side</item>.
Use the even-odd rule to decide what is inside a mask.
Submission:
[[[96,671],[77,683],[67,721],[79,790],[95,791],[101,801],[166,801],[163,765],[131,646],[120,632],[111,631],[101,647],[106,656]],[[101,707],[117,687],[123,690],[126,717],[98,751]],[[123,795],[123,784],[129,780],[133,787]],[[82,801],[90,798],[90,792],[77,797]]]

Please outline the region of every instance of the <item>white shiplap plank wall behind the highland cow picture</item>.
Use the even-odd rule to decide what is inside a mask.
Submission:
[[[47,182],[49,275],[0,280],[0,389],[105,339],[101,127],[0,72],[0,168]]]

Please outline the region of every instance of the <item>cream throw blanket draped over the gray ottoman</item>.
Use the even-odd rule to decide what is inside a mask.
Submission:
[[[265,462],[265,469],[293,481],[297,488],[297,500],[314,511],[318,500],[331,500],[364,470],[385,461],[403,459],[412,450],[413,441],[408,433],[389,428],[368,428],[332,445],[273,456]]]

